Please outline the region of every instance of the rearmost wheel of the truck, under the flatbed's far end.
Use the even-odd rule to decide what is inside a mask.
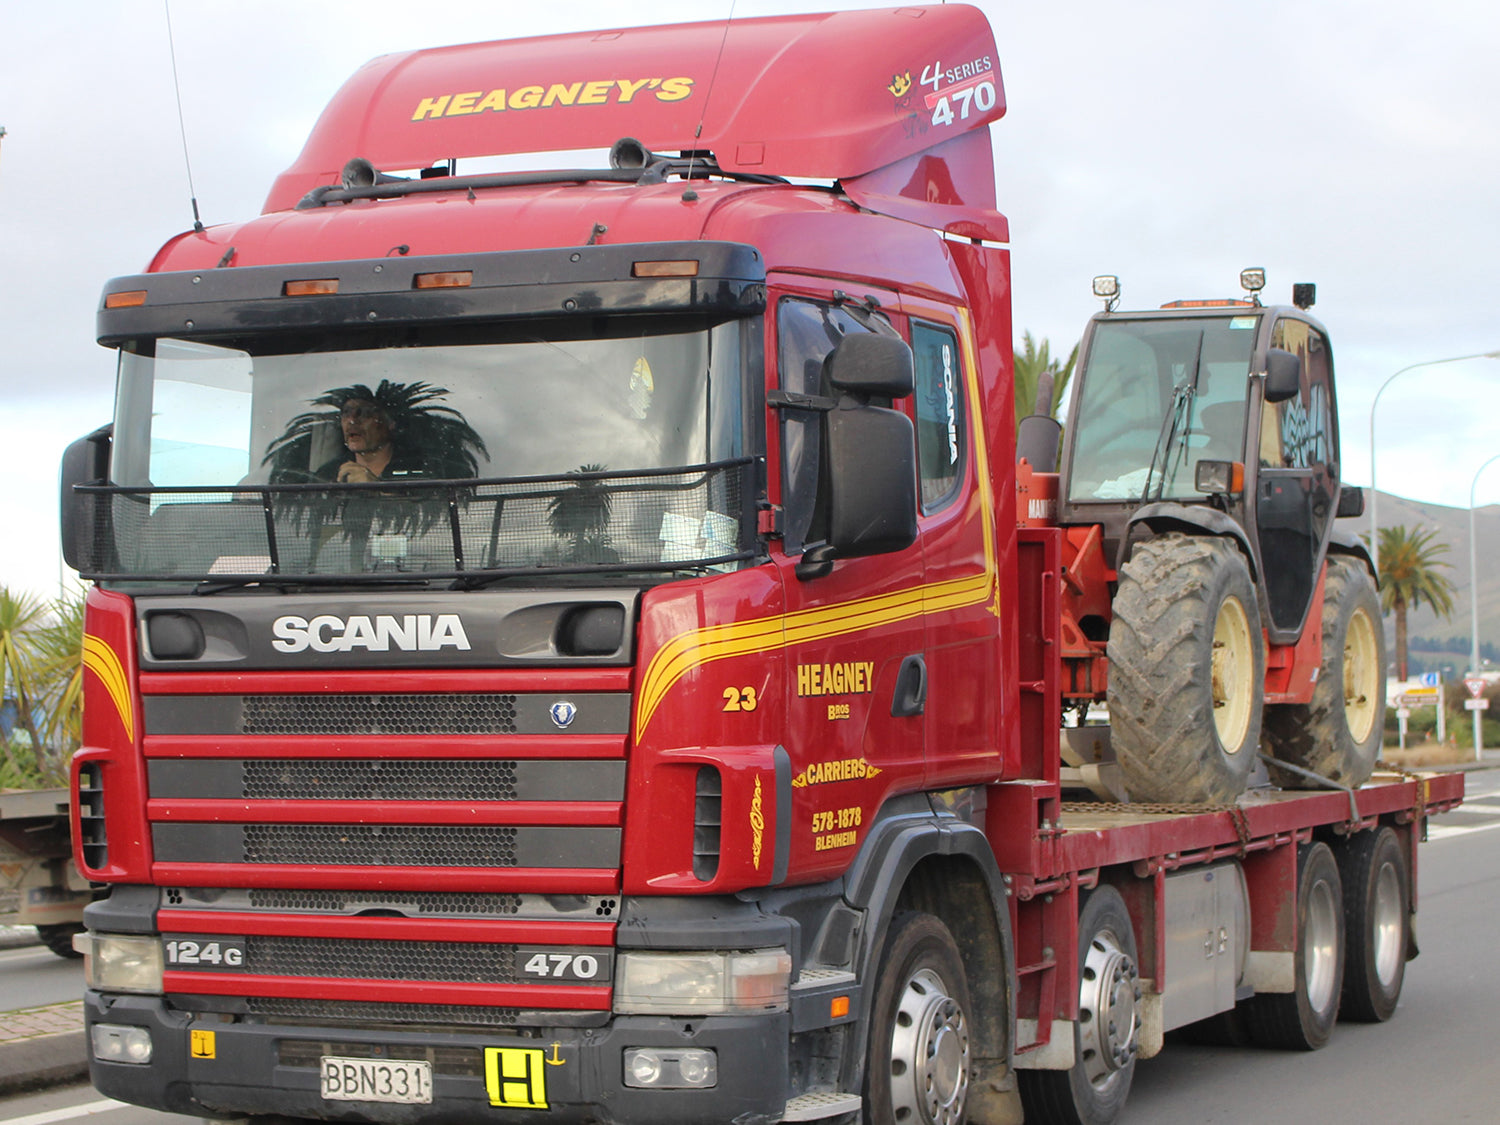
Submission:
[[[1406,981],[1410,880],[1394,828],[1358,832],[1338,850],[1344,884],[1344,994],[1340,1016],[1383,1023]]]

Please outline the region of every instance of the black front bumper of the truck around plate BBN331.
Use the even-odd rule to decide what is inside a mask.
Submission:
[[[90,1059],[100,1094],[170,1113],[447,1125],[465,1122],[778,1120],[786,1089],[790,1020],[770,1016],[615,1017],[600,1028],[496,1032],[375,1030],[225,1022],[170,1008],[159,996],[88,992],[86,1022],[146,1028],[147,1065]],[[624,1082],[630,1047],[698,1047],[717,1053],[708,1089],[638,1089]],[[502,1050],[490,1065],[486,1050]],[[432,1062],[432,1102],[328,1101],[320,1095],[322,1054]],[[501,1074],[501,1077],[496,1077]],[[508,1080],[504,1080],[508,1076]]]

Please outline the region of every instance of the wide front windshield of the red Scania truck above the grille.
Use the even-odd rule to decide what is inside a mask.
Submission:
[[[126,350],[98,570],[729,566],[746,538],[754,333],[744,321],[630,327]]]

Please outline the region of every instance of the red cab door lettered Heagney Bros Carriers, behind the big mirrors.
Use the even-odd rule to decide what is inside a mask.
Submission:
[[[780,282],[780,284],[778,284]],[[874,297],[874,302],[866,298]],[[926,717],[903,705],[912,669],[926,666],[921,538],[904,550],[806,566],[826,536],[819,488],[831,387],[824,360],[850,333],[898,334],[894,294],[772,278],[771,308],[783,404],[772,414],[772,500],[786,597],[786,750],[792,762],[792,864],[843,870],[892,792],[922,786]],[[789,405],[802,396],[812,406]],[[891,404],[902,410],[900,404]]]

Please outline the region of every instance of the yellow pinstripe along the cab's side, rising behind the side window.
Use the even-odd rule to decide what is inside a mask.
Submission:
[[[980,525],[984,531],[984,570],[978,574],[933,582],[890,594],[838,602],[792,614],[735,621],[728,626],[706,626],[668,640],[651,657],[640,681],[636,704],[636,730],[642,732],[672,686],[702,664],[728,660],[747,652],[776,652],[792,645],[828,640],[849,633],[862,633],[880,626],[909,621],[963,606],[990,603],[990,612],[1000,612],[999,568],[994,554],[994,502],[990,486],[990,458],[984,441],[980,411],[978,356],[974,348],[974,326],[968,310],[960,309],[960,346],[964,363],[975,376],[966,380],[969,416],[974,418],[975,472],[980,488]]]

